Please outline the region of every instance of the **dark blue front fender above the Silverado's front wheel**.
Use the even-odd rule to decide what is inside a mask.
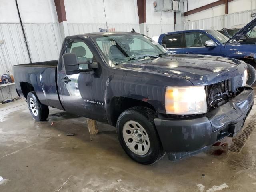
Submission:
[[[146,102],[156,112],[165,113],[166,86],[181,85],[193,86],[185,78],[170,77],[165,74],[146,70],[136,71],[116,68],[114,74],[106,79],[105,110],[108,122],[111,122],[111,101],[114,97],[130,98]]]

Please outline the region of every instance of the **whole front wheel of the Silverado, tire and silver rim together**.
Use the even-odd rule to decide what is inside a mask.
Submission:
[[[141,164],[153,164],[165,155],[154,118],[156,114],[150,108],[134,107],[122,112],[117,120],[117,134],[122,148],[130,158]]]

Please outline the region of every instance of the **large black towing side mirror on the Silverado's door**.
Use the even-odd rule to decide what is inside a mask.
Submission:
[[[92,62],[92,63],[78,62],[76,54],[74,54],[74,53],[63,54],[62,62],[64,65],[64,71],[67,75],[78,74],[80,72],[92,71],[92,70],[98,68],[97,62]]]

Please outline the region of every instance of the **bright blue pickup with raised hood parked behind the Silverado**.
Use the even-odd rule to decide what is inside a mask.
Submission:
[[[247,63],[247,84],[256,80],[256,19],[230,39],[217,30],[185,30],[164,33],[158,43],[176,54],[204,54],[243,60]]]

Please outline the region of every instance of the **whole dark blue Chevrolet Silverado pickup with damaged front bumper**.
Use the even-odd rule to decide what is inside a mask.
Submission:
[[[116,126],[124,151],[153,164],[193,156],[242,129],[254,102],[246,64],[171,54],[136,32],[68,36],[58,61],[13,66],[37,121],[48,106]]]

